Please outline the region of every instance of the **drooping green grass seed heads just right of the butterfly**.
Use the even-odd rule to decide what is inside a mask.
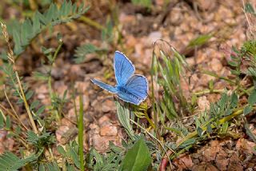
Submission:
[[[158,46],[157,42],[155,46]],[[183,77],[182,74],[184,67],[186,67],[186,62],[184,57],[178,54],[178,51],[174,47],[169,44],[167,46],[170,47],[170,54],[166,54],[161,49],[158,54],[153,52],[151,67],[151,77],[163,89],[163,93],[160,96],[153,92],[154,89],[156,91],[160,89],[156,89],[155,87],[152,89],[154,101],[156,102],[155,107],[158,109],[158,112],[162,113],[158,114],[162,124],[164,124],[165,117],[172,120],[176,117],[184,116],[190,112],[191,108],[190,103],[187,102],[183,95],[181,85],[181,78]],[[180,105],[175,107],[174,101],[178,101]]]

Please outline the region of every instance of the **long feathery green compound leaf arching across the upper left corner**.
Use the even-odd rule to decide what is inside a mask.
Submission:
[[[30,45],[30,42],[43,30],[63,22],[70,22],[86,13],[88,8],[83,5],[64,1],[58,8],[57,4],[51,3],[48,10],[43,14],[36,11],[33,18],[28,18],[24,22],[13,22],[8,26],[8,33],[14,38],[14,55],[18,56]]]

